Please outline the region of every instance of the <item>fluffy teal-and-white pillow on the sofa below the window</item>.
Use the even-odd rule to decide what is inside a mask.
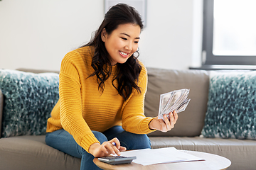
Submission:
[[[211,72],[204,137],[256,140],[256,72]]]

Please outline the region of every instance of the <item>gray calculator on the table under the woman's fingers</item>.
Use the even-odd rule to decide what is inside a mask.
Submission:
[[[98,160],[105,162],[107,164],[130,164],[133,159],[136,157],[122,157],[122,156],[109,156],[109,157],[100,157]]]

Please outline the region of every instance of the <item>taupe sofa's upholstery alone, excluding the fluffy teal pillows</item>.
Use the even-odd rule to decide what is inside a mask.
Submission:
[[[25,70],[25,72],[36,72]],[[39,71],[42,72],[42,71]],[[176,147],[218,154],[232,162],[228,169],[256,169],[256,140],[202,137],[206,112],[210,72],[202,70],[167,70],[148,68],[149,84],[145,98],[145,115],[156,116],[159,95],[177,89],[190,89],[186,111],[178,113],[178,122],[169,132],[149,134],[152,148]],[[0,86],[1,89],[1,86]],[[0,93],[0,128],[5,96]],[[4,120],[4,118],[3,118]],[[2,127],[2,130],[4,126]],[[0,134],[3,134],[0,129]],[[17,135],[0,139],[0,169],[80,169],[80,159],[48,147],[45,135]]]

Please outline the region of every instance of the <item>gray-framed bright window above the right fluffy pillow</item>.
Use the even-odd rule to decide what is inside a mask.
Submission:
[[[255,6],[255,0],[204,0],[204,65],[256,65]]]

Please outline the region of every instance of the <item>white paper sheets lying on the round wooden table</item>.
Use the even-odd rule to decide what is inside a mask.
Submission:
[[[138,149],[121,152],[124,157],[137,157],[132,162],[144,166],[151,164],[163,164],[171,162],[203,161],[199,157],[182,152],[175,147],[164,147],[160,149]]]

